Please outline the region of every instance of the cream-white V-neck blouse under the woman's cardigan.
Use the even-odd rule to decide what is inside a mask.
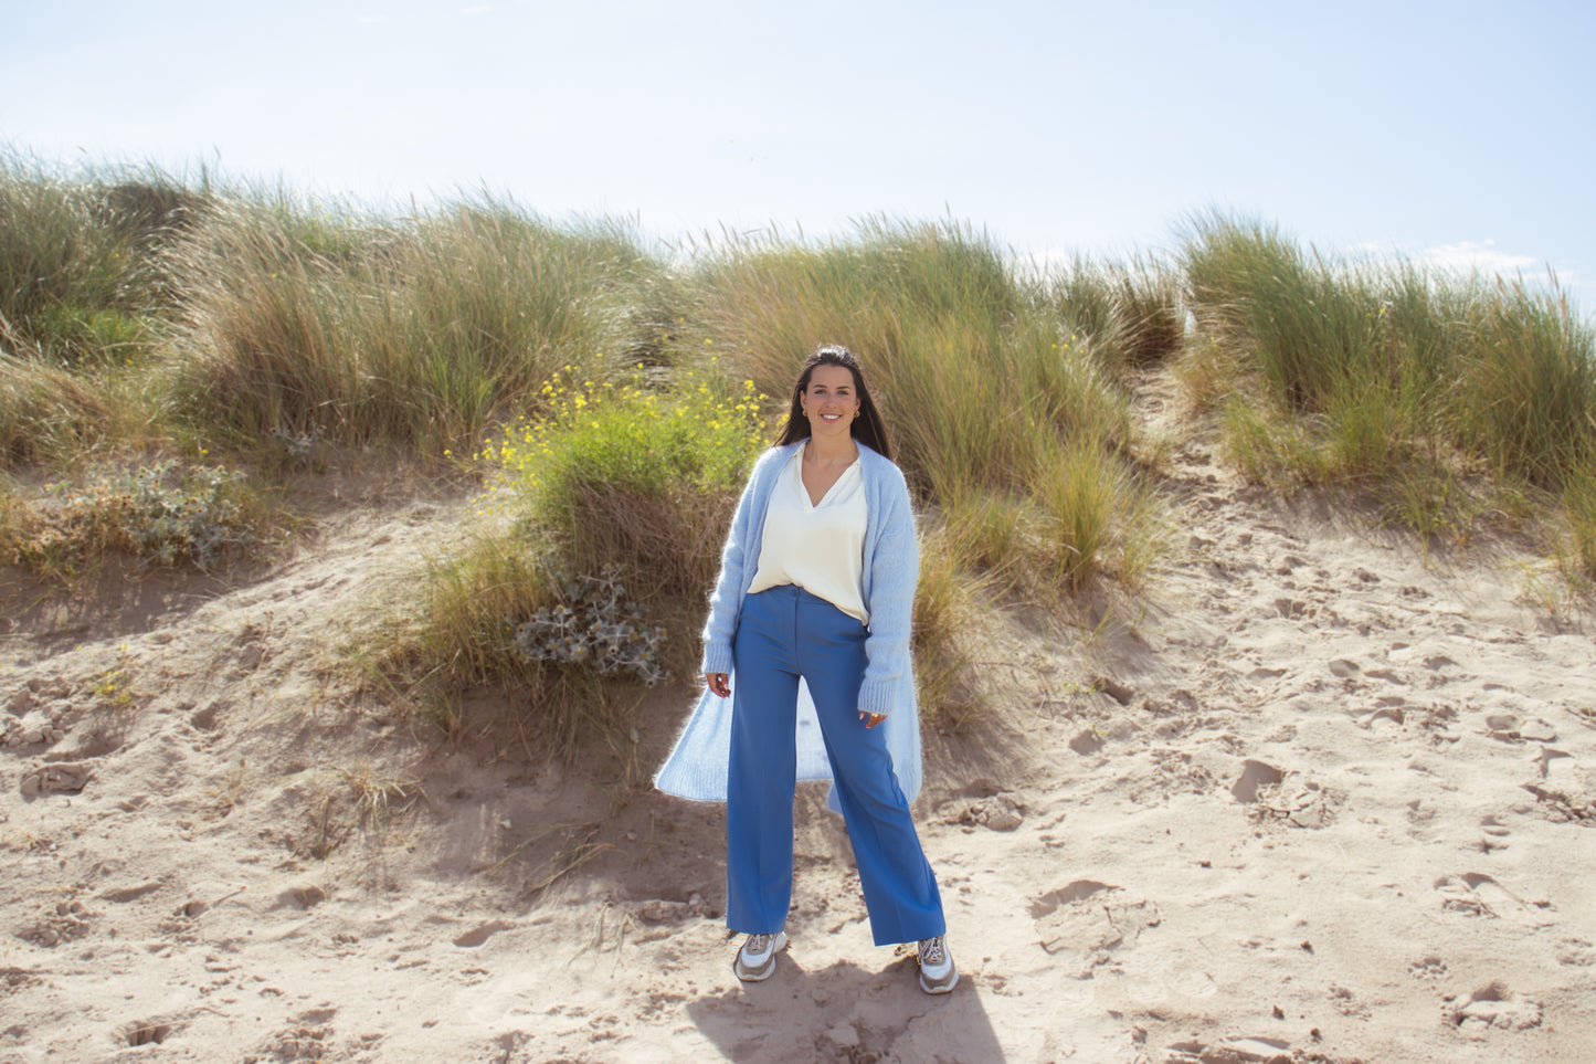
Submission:
[[[870,511],[865,478],[855,459],[814,505],[809,489],[803,486],[803,455],[808,449],[804,441],[771,492],[760,567],[749,594],[792,583],[868,625],[863,569]]]

